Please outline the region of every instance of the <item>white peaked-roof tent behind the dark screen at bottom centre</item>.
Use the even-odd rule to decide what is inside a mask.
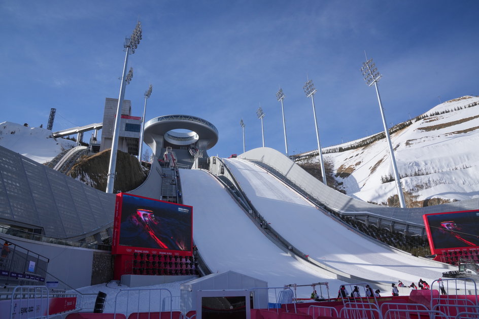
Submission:
[[[268,283],[238,272],[225,271],[184,282],[180,286],[181,311],[187,313],[196,309],[196,292],[199,290],[253,290],[267,288]],[[267,308],[267,289],[255,289],[251,292],[254,308]]]

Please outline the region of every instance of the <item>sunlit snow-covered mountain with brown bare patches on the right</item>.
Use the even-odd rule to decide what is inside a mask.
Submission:
[[[479,97],[443,102],[393,130],[391,141],[406,201],[479,197]],[[325,148],[323,153],[348,195],[383,203],[396,194],[384,132]],[[319,158],[304,161],[319,162]]]

